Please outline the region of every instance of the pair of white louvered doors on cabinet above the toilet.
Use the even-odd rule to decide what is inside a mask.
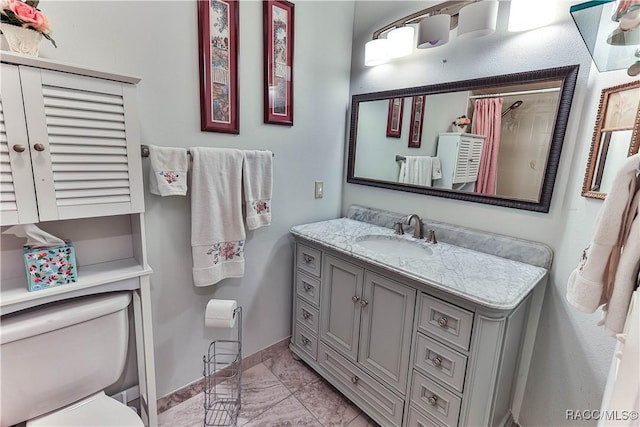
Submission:
[[[3,225],[143,211],[134,85],[2,63],[0,93]]]

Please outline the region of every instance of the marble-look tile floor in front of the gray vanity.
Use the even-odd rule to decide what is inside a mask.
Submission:
[[[377,424],[288,348],[242,373],[242,407],[238,426],[375,427]],[[196,427],[204,422],[199,393],[158,416],[159,427]]]

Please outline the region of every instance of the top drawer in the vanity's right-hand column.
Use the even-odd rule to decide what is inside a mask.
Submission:
[[[473,313],[422,294],[418,329],[469,350]]]

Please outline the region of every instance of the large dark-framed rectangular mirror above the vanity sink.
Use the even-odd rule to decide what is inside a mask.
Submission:
[[[347,182],[548,212],[578,68],[353,95]]]

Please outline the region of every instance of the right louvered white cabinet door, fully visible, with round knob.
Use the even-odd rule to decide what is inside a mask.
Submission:
[[[41,221],[144,210],[132,85],[20,67]]]

